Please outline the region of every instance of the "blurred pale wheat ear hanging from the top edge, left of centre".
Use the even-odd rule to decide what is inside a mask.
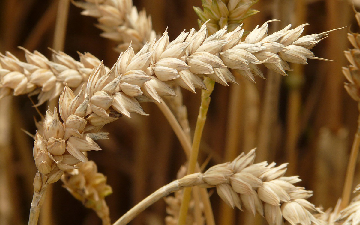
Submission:
[[[135,52],[148,40],[156,38],[151,17],[145,10],[138,12],[132,0],[85,0],[73,4],[84,9],[82,15],[98,18],[97,27],[104,31],[101,36],[118,42],[117,51],[125,51],[130,43]]]

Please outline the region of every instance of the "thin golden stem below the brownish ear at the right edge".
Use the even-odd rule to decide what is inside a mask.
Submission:
[[[354,142],[352,143],[349,163],[347,165],[347,171],[346,171],[346,177],[345,177],[345,183],[344,183],[344,189],[342,192],[342,201],[340,210],[345,208],[350,201],[350,195],[352,190],[352,183],[354,181],[354,173],[355,173],[355,167],[356,167],[356,161],[357,161],[357,155],[359,153],[360,148],[360,115],[357,119],[357,131],[354,137]]]

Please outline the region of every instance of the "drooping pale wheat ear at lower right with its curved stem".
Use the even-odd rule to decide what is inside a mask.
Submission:
[[[209,168],[204,173],[187,175],[158,189],[130,211],[114,225],[125,225],[136,215],[157,200],[186,187],[216,187],[220,198],[232,208],[242,210],[242,206],[254,215],[264,216],[270,225],[280,225],[283,219],[292,225],[319,224],[314,215],[319,208],[306,199],[312,192],[294,186],[300,181],[298,176],[285,177],[287,163],[275,167],[276,163],[253,164],[255,149],[240,154],[234,161]]]

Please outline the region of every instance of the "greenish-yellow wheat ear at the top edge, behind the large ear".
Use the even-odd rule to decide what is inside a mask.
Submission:
[[[242,21],[259,11],[251,9],[258,0],[202,0],[204,10],[194,7],[199,16],[198,23],[210,22],[206,25],[210,34],[228,26],[229,31],[235,30]]]

